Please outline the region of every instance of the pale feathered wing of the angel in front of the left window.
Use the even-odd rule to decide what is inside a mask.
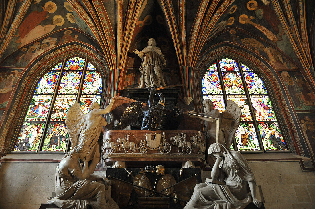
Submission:
[[[70,136],[72,148],[78,145],[78,136],[85,128],[85,116],[81,111],[80,103],[74,103],[66,114],[66,128]]]

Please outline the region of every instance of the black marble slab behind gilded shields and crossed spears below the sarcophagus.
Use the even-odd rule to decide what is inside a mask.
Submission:
[[[144,169],[144,168],[143,168]],[[140,168],[128,168],[129,172],[132,172],[132,175],[129,175],[128,172],[123,168],[107,168],[106,169],[106,176],[110,175],[112,177],[128,181],[130,183],[133,183],[134,177],[138,175],[141,170]],[[144,171],[146,171],[144,169]],[[197,177],[194,176],[197,173]],[[152,188],[154,188],[155,182],[157,180],[157,184],[159,182],[159,179],[162,177],[161,175],[157,175],[156,173],[145,173],[147,178],[150,180],[152,184]],[[196,184],[201,183],[201,170],[200,168],[183,168],[183,172],[180,176],[180,168],[165,168],[165,174],[170,174],[175,178],[176,183],[187,179],[191,176],[191,179],[188,179],[187,181],[184,181],[180,184],[175,185],[175,191],[177,194],[177,198],[189,201],[194,187]],[[134,190],[133,185],[123,183],[121,181],[118,181],[116,179],[111,179],[112,181],[112,198],[115,202],[117,202],[119,208],[121,209],[131,209],[131,208],[140,208],[137,205],[138,201],[138,195]],[[156,189],[155,189],[156,190]],[[160,195],[156,195],[156,197],[161,197]],[[169,208],[183,208],[186,205],[186,202],[180,202],[178,201],[176,204],[173,201],[172,198],[170,198],[169,201]]]

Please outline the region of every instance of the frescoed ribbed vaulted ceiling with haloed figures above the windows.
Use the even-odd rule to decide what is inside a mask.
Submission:
[[[0,66],[25,67],[77,42],[99,52],[107,70],[118,69],[116,76],[123,78],[133,63],[130,52],[143,47],[150,36],[163,36],[163,44],[169,44],[165,51],[174,54],[172,66],[178,68],[180,83],[189,82],[186,77],[207,53],[231,46],[276,70],[300,69],[314,85],[312,4],[305,0],[1,1]],[[123,88],[123,80],[118,80],[113,89]]]

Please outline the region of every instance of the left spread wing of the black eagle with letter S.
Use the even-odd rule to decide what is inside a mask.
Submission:
[[[145,114],[142,102],[132,102],[124,111],[117,126],[113,130],[123,130],[129,125],[140,126]]]

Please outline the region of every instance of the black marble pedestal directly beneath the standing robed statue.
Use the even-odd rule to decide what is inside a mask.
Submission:
[[[130,99],[148,103],[148,99],[150,95],[149,88],[129,88],[127,89],[127,91],[128,91],[128,97]],[[166,102],[165,109],[172,110],[177,103],[180,89],[165,88],[165,89],[158,90],[158,92],[162,93],[165,97],[165,102]],[[154,95],[154,104],[156,104],[158,101],[159,101],[159,97],[157,95]]]

